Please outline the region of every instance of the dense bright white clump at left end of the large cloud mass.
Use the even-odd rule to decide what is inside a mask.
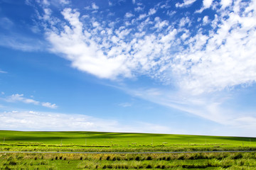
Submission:
[[[114,56],[107,57],[94,40],[89,40],[87,36],[90,36],[90,33],[85,32],[87,35],[82,33],[82,23],[78,18],[80,13],[65,8],[63,16],[73,28],[65,26],[65,31],[59,35],[48,32],[48,40],[53,44],[53,52],[64,53],[66,58],[73,62],[73,67],[100,78],[114,79],[119,74],[124,77],[131,76],[130,70],[124,64],[127,59],[123,55],[115,55],[117,52],[115,47],[112,48]],[[112,40],[113,38],[114,36]]]

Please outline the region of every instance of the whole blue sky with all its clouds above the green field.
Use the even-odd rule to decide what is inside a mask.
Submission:
[[[0,129],[255,136],[255,8],[0,0]]]

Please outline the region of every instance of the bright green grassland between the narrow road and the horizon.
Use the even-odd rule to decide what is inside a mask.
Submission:
[[[256,138],[0,130],[0,151],[172,152],[212,150],[256,150]]]

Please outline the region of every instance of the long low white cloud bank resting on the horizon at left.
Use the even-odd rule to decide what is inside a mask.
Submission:
[[[0,113],[1,130],[60,130],[97,132],[160,132],[171,133],[170,128],[151,123],[125,125],[117,120],[94,118],[87,115],[9,111]],[[151,127],[151,128],[150,128]],[[176,131],[179,132],[178,130]]]

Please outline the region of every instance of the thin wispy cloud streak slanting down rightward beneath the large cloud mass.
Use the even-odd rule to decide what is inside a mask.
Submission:
[[[122,89],[122,88],[121,88]],[[177,91],[163,89],[122,89],[132,96],[143,98],[146,101],[157,103],[161,106],[175,108],[184,113],[190,113],[200,118],[229,125],[233,128],[248,130],[255,128],[256,115],[253,111],[238,111],[229,108],[226,103],[232,98],[228,93],[219,93],[212,96],[189,96]],[[253,135],[252,133],[250,135]]]

